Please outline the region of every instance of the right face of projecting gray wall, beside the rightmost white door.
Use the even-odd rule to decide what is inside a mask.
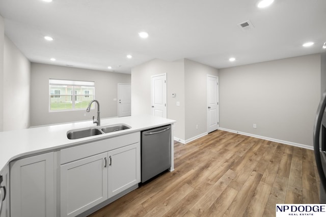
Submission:
[[[185,140],[207,133],[207,75],[218,76],[218,69],[184,59]],[[198,129],[196,129],[198,125]]]

